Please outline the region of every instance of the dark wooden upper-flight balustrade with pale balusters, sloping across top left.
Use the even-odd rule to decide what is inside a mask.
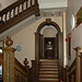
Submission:
[[[0,11],[0,33],[28,17],[39,15],[37,0],[19,0]]]

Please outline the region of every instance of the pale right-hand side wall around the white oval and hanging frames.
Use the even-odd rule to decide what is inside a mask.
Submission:
[[[69,0],[68,1],[68,10],[67,10],[67,35],[69,33],[72,34],[72,56],[71,56],[71,60],[69,60],[69,65],[72,63],[72,61],[75,58],[75,51],[73,48],[75,47],[82,47],[82,24],[80,24],[77,28],[71,30],[70,26],[70,15],[73,14],[75,16],[75,14],[78,13],[79,9],[82,7],[82,0]]]

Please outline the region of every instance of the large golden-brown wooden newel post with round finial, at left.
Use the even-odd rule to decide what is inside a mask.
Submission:
[[[11,36],[7,37],[7,47],[3,47],[3,82],[14,82],[14,51],[15,49],[11,46],[13,40]]]

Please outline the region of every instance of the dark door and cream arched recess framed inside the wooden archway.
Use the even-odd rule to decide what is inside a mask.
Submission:
[[[57,30],[52,25],[45,25],[40,30],[40,59],[56,59],[57,58]],[[43,44],[42,44],[43,42]]]

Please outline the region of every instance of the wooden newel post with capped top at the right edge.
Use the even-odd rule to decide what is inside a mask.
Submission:
[[[81,54],[82,52],[82,48],[81,47],[77,47],[74,48],[75,50],[75,57],[77,57],[77,69],[75,69],[75,82],[81,82]]]

